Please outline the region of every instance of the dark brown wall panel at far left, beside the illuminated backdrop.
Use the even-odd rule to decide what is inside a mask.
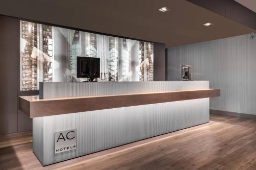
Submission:
[[[17,132],[18,20],[0,15],[0,135]]]

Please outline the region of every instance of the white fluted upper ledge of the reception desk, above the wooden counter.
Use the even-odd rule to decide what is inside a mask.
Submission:
[[[40,99],[74,96],[208,89],[208,81],[40,83]]]

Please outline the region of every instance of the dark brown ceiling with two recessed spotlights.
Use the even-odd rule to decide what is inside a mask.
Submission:
[[[159,8],[170,11],[162,13]],[[1,1],[0,13],[106,34],[165,43],[166,47],[247,34],[253,29],[185,0]],[[214,23],[204,27],[203,23]]]

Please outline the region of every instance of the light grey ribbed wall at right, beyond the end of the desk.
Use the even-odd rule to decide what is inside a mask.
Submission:
[[[221,96],[210,109],[256,114],[256,39],[250,34],[172,47],[167,80],[180,80],[180,65],[191,65],[194,80],[208,80]]]

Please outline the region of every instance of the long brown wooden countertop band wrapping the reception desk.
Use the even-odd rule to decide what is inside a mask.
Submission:
[[[216,96],[220,96],[220,89],[96,95],[56,99],[39,99],[37,95],[34,95],[20,96],[18,98],[18,108],[30,118],[33,118],[118,107],[212,98]]]

